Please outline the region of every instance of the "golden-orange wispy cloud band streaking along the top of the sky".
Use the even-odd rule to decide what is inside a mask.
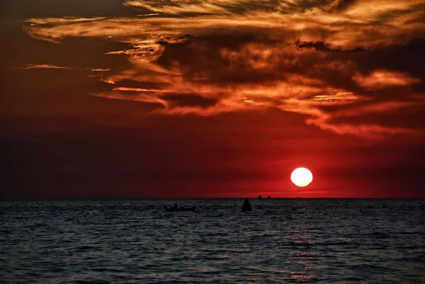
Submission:
[[[331,2],[336,3],[345,2]],[[153,39],[162,37],[170,40],[179,35],[210,34],[212,30],[214,33],[219,30],[221,33],[256,30],[256,33],[277,36],[285,31],[295,33],[295,40],[323,42],[330,49],[338,47],[341,50],[349,50],[353,46],[373,49],[404,45],[412,38],[424,38],[425,1],[370,3],[356,1],[344,10],[330,8],[331,11],[327,11],[327,1],[128,1],[127,5],[149,6],[152,11],[160,11],[164,15],[171,13],[171,16],[30,18],[26,21],[29,25],[26,31],[33,38],[52,42],[60,42],[69,36],[85,36],[112,38],[135,45],[140,40],[152,40],[152,35]],[[175,9],[189,13],[191,17],[176,15]]]

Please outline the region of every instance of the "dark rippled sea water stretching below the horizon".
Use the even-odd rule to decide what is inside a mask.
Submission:
[[[425,283],[425,200],[243,201],[3,202],[0,282]]]

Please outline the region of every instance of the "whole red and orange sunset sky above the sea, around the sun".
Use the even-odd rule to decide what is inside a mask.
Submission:
[[[425,0],[0,0],[0,24],[1,198],[425,198]]]

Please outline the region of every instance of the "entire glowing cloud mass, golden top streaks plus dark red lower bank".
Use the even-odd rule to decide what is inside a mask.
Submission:
[[[55,43],[83,37],[130,44],[105,54],[127,57],[130,67],[92,69],[108,71],[100,79],[110,86],[93,95],[152,104],[156,113],[276,108],[339,134],[377,138],[422,131],[397,125],[393,110],[425,100],[423,74],[412,68],[423,55],[409,52],[425,48],[425,1],[134,0],[125,5],[152,13],[30,18],[24,30]],[[412,86],[416,89],[407,89]],[[390,125],[382,125],[382,113],[391,116]],[[365,115],[374,119],[362,122]]]

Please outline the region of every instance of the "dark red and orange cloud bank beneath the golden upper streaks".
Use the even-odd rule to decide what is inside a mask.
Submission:
[[[224,102],[239,100],[234,103],[289,111],[295,108],[296,112],[306,114],[319,112],[314,114],[317,115],[317,119],[312,120],[314,125],[341,133],[374,137],[370,134],[407,134],[425,126],[414,123],[414,127],[408,127],[409,123],[397,123],[397,111],[391,112],[424,100],[421,93],[411,91],[423,86],[421,74],[414,72],[415,69],[404,69],[413,64],[414,57],[421,57],[414,52],[420,44],[341,50],[317,43],[297,42],[296,46],[284,37],[256,33],[186,36],[178,42],[160,42],[162,52],[149,63],[159,69],[145,67],[135,59],[131,72],[125,71],[110,79],[114,86],[121,87],[120,91],[127,91],[122,98],[148,103],[159,103],[154,100],[159,98],[162,105],[158,106],[164,108],[165,113],[205,110],[207,115],[220,113],[228,111]],[[400,52],[409,49],[412,49],[410,55]],[[403,63],[388,64],[390,57],[396,55],[403,58]],[[139,98],[138,91],[142,92]],[[208,98],[208,102],[200,98]],[[305,102],[306,107],[288,106],[286,102],[291,98]],[[385,123],[379,119],[382,113],[390,118]],[[368,119],[363,119],[366,116]],[[332,123],[334,125],[329,125]]]

